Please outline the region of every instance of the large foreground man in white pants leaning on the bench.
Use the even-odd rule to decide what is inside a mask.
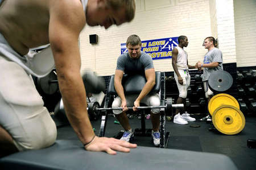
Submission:
[[[51,146],[56,125],[33,84],[56,66],[65,113],[88,151],[129,152],[136,144],[98,138],[86,110],[79,35],[85,24],[130,22],[134,0],[0,0],[0,156]],[[36,55],[30,49],[51,44]]]

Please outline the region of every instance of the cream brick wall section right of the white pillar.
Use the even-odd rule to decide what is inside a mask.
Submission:
[[[234,0],[237,67],[256,65],[256,1]]]

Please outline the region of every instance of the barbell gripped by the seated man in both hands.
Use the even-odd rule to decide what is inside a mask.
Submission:
[[[168,97],[166,98],[166,105],[163,106],[139,106],[136,107],[136,109],[165,109],[165,111],[172,113],[172,108],[175,109],[183,109],[184,105],[181,104],[174,104],[172,105],[172,98]],[[100,104],[98,102],[90,102],[88,103],[88,114],[90,115],[90,118],[97,119],[100,115],[100,111],[106,111],[106,110],[122,110],[123,107],[109,107],[109,108],[100,108]],[[128,110],[133,110],[133,107],[127,107]]]

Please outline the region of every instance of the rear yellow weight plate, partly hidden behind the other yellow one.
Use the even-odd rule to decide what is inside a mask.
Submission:
[[[221,105],[231,105],[237,107],[237,109],[240,109],[239,103],[237,102],[236,98],[229,94],[220,93],[213,96],[208,103],[208,110],[210,115],[212,115],[213,111]]]

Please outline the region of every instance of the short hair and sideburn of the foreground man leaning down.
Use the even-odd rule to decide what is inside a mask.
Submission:
[[[107,3],[113,10],[119,10],[125,7],[127,22],[133,20],[136,9],[134,0],[107,0]]]

